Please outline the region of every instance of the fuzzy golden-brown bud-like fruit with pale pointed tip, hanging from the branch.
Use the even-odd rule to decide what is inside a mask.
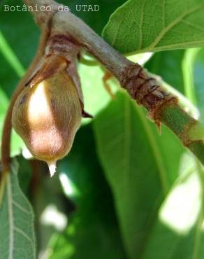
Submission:
[[[34,158],[48,163],[52,176],[57,160],[71,149],[82,104],[66,59],[56,55],[44,59],[17,97],[12,123]]]

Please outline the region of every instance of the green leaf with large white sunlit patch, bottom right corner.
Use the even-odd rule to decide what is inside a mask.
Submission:
[[[194,156],[185,153],[180,162],[180,175],[158,211],[142,259],[203,258],[203,180],[200,174],[203,169],[198,167]]]

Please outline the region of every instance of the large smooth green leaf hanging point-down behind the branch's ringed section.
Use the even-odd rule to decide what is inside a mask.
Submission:
[[[184,148],[156,125],[123,92],[94,121],[96,144],[114,195],[129,258],[138,258],[156,211],[177,178]],[[168,148],[166,148],[168,147]]]

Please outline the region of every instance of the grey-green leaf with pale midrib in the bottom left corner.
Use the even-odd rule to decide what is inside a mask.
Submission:
[[[17,181],[17,162],[1,181],[0,258],[36,259],[34,214]]]

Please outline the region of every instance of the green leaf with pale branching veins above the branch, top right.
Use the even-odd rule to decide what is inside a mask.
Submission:
[[[120,52],[154,52],[204,45],[201,0],[129,0],[110,16],[103,37]]]

